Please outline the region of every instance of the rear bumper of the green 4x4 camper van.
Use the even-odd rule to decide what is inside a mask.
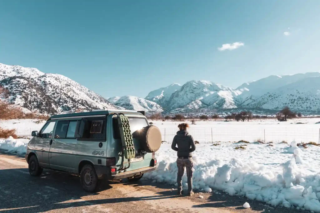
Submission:
[[[116,166],[102,166],[102,165],[94,165],[94,169],[97,173],[98,179],[106,179],[106,180],[119,180],[124,178],[130,178],[136,175],[144,174],[150,171],[156,170],[157,166],[148,166],[141,169],[136,169],[132,171],[122,171],[121,173],[111,172],[111,168],[116,168]]]

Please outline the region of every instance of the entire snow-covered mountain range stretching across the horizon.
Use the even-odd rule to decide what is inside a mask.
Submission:
[[[292,110],[320,114],[320,73],[271,75],[236,89],[207,80],[191,80],[136,96],[104,98],[60,74],[0,63],[0,85],[7,101],[25,112],[57,114],[76,110],[128,109],[148,113],[201,113],[217,110]]]

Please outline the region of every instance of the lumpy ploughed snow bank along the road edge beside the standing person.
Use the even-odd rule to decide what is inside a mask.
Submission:
[[[156,155],[158,168],[145,174],[145,177],[177,185],[176,158],[164,154]],[[309,172],[299,169],[294,157],[280,164],[279,171],[268,171],[257,163],[246,164],[236,158],[227,163],[219,157],[205,161],[195,156],[193,160],[195,190],[211,192],[212,188],[219,189],[231,196],[246,196],[273,206],[295,206],[320,212],[320,172],[310,175]],[[186,175],[183,176],[183,181],[186,187]]]

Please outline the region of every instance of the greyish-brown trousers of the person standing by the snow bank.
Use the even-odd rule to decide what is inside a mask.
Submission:
[[[192,177],[193,177],[193,160],[192,157],[189,158],[180,158],[177,159],[178,174],[177,174],[177,184],[178,191],[182,191],[182,176],[184,174],[184,168],[187,169],[187,178],[188,178],[188,193],[192,192]]]

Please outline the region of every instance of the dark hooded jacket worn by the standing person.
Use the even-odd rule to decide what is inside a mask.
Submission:
[[[178,148],[176,145],[178,145]],[[174,136],[171,148],[178,152],[179,157],[191,157],[192,152],[196,150],[196,145],[193,137],[189,135],[187,130],[180,130]]]

